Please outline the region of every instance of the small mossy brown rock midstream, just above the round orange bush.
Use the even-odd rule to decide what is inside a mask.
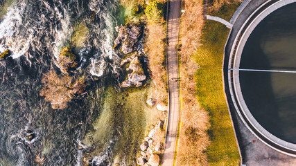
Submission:
[[[60,56],[58,57],[58,65],[64,73],[67,73],[70,68],[76,68],[78,66],[76,55],[71,53],[71,48],[65,47],[62,49]]]

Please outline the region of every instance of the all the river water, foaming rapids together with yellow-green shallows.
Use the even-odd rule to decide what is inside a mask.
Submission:
[[[0,0],[0,5],[0,52],[12,53],[0,61],[0,165],[36,165],[36,156],[44,157],[43,165],[82,165],[87,155],[92,165],[136,165],[139,140],[155,122],[151,117],[159,115],[143,102],[150,87],[119,89],[122,55],[112,48],[115,26],[124,22],[119,2]],[[69,45],[80,57],[71,75],[87,76],[87,93],[67,109],[53,110],[40,97],[41,78],[59,71],[57,57]]]

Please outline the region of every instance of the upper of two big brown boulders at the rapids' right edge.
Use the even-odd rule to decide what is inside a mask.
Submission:
[[[139,41],[141,28],[136,24],[129,23],[127,26],[116,27],[115,30],[119,32],[119,35],[114,41],[114,48],[121,44],[124,54],[132,53],[135,50],[135,44]]]

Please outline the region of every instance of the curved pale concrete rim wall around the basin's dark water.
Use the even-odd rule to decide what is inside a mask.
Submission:
[[[294,2],[296,2],[296,0],[270,0],[253,12],[247,21],[245,21],[245,24],[243,24],[240,32],[236,36],[234,45],[232,46],[231,54],[229,56],[228,68],[239,68],[243,48],[254,28],[256,28],[256,26],[271,12],[274,12],[278,8]],[[272,147],[273,149],[277,149],[278,151],[284,152],[285,154],[296,156],[296,144],[286,142],[285,140],[281,140],[280,138],[272,135],[272,133],[265,130],[252,116],[252,113],[250,113],[250,110],[247,108],[247,104],[245,104],[245,100],[241,92],[239,71],[228,71],[228,82],[232,101],[234,102],[234,107],[236,107],[238,115],[242,118],[243,122],[245,122],[246,126],[268,146]]]

